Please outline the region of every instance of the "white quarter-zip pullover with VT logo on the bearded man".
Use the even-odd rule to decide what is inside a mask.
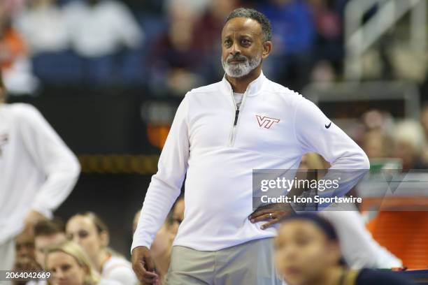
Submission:
[[[239,109],[225,77],[188,92],[148,187],[131,250],[150,248],[186,174],[185,216],[173,245],[215,251],[275,236],[275,227],[260,229],[265,221],[248,220],[253,169],[297,169],[307,152],[321,154],[333,169],[369,169],[363,150],[330,122],[311,101],[263,73],[248,85]],[[361,177],[341,183],[341,191]]]

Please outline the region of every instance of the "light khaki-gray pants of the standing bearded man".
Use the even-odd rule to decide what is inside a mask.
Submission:
[[[273,261],[273,238],[218,251],[175,246],[163,284],[280,285]]]

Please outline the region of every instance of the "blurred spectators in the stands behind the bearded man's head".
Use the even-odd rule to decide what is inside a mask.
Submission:
[[[144,3],[138,3],[144,2]],[[272,80],[301,89],[334,80],[348,0],[5,0],[0,63],[10,92],[41,85],[150,85],[183,96],[222,75],[220,33],[239,6],[273,24]]]

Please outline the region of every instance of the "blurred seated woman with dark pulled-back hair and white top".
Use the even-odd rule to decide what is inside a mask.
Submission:
[[[86,212],[71,217],[66,224],[66,235],[85,249],[101,277],[123,285],[136,284],[138,279],[131,263],[108,249],[110,233],[104,221],[96,214]]]

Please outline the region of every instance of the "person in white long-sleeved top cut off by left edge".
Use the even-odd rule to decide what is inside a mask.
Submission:
[[[0,270],[13,268],[14,238],[52,212],[78,180],[78,159],[40,112],[5,103],[0,73]]]

